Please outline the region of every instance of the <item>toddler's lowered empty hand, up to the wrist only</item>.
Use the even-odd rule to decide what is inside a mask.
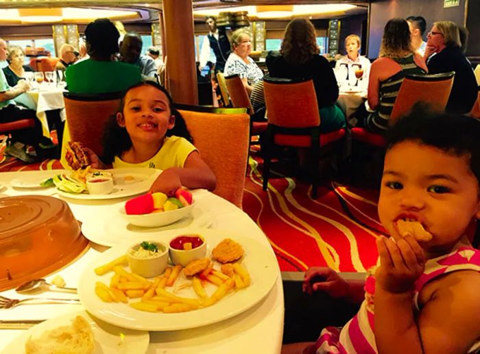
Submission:
[[[333,298],[348,295],[348,283],[335,270],[328,267],[313,267],[305,272],[302,290],[312,294],[312,291],[324,291]]]

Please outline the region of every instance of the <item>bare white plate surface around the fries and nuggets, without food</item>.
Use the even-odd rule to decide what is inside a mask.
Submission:
[[[272,289],[280,270],[278,263],[269,246],[261,244],[252,238],[239,236],[230,231],[220,231],[213,229],[188,229],[182,233],[198,233],[204,236],[207,242],[207,255],[211,250],[224,238],[232,238],[243,246],[245,255],[241,260],[241,264],[250,273],[251,283],[247,288],[230,292],[224,299],[215,303],[210,307],[203,307],[189,312],[177,314],[164,314],[163,312],[152,313],[143,312],[126,305],[125,303],[104,303],[95,294],[95,282],[103,281],[110,283],[113,273],[98,276],[93,271],[97,266],[106,264],[117,257],[120,257],[127,251],[129,246],[135,242],[120,244],[101,253],[99,257],[84,269],[84,273],[80,277],[78,286],[78,296],[82,304],[94,316],[119,327],[130,329],[142,329],[145,331],[172,331],[178,329],[195,328],[211,323],[217,323],[226,318],[230,318],[237,314],[245,312],[250,307],[259,303]],[[180,233],[180,234],[182,234]],[[165,231],[158,236],[150,236],[149,240],[169,242],[172,238],[178,236],[178,231]],[[216,264],[214,268],[219,269]],[[128,269],[128,268],[127,268]],[[184,277],[183,273],[176,280],[173,287],[167,287],[166,290],[176,291],[178,296],[189,298],[197,298],[192,287],[180,287],[190,281]],[[210,296],[217,289],[216,286],[207,284],[205,290]],[[139,301],[134,299],[132,301]]]

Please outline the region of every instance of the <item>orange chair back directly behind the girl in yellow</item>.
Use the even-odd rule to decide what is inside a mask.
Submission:
[[[238,113],[236,108],[232,113],[224,108],[221,114],[178,112],[187,124],[193,144],[217,177],[213,193],[241,208],[247,168],[248,114]]]

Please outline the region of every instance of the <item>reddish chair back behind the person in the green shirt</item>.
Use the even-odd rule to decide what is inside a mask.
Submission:
[[[67,124],[64,128],[62,157],[68,141],[79,141],[97,155],[104,153],[103,136],[108,118],[117,112],[121,92],[75,94],[64,92]]]

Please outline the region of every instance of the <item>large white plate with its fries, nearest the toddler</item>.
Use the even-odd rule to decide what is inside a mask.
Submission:
[[[88,312],[112,325],[145,331],[172,331],[217,323],[245,312],[272,289],[280,271],[269,246],[230,231],[169,230],[150,236],[169,243],[184,234],[201,235],[207,243],[207,268],[193,276],[170,264],[158,277],[145,279],[131,272],[125,253],[134,242],[108,249],[82,273],[80,301]],[[224,266],[211,252],[230,238],[243,256]],[[188,267],[188,266],[187,266]]]

